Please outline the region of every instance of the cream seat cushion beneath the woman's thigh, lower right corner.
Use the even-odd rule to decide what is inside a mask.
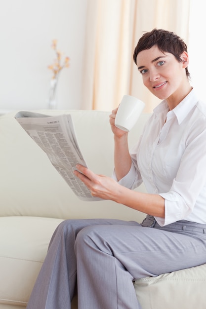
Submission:
[[[143,309],[205,309],[206,264],[141,278],[134,287]]]

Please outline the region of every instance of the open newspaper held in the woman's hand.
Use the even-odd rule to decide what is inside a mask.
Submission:
[[[86,167],[87,165],[78,146],[71,115],[48,116],[18,112],[15,118],[47,154],[52,165],[80,199],[101,200],[92,196],[84,183],[73,173],[77,163]]]

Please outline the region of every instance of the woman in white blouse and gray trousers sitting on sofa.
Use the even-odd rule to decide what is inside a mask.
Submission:
[[[154,29],[140,38],[134,61],[144,85],[163,102],[129,153],[115,126],[114,177],[77,165],[92,195],[147,213],[142,224],[66,220],[54,232],[28,309],[140,309],[133,280],[206,263],[206,106],[188,80],[187,46]],[[148,193],[132,191],[144,182]]]

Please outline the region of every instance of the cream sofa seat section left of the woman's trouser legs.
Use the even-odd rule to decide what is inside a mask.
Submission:
[[[61,219],[0,217],[0,304],[26,306]]]

